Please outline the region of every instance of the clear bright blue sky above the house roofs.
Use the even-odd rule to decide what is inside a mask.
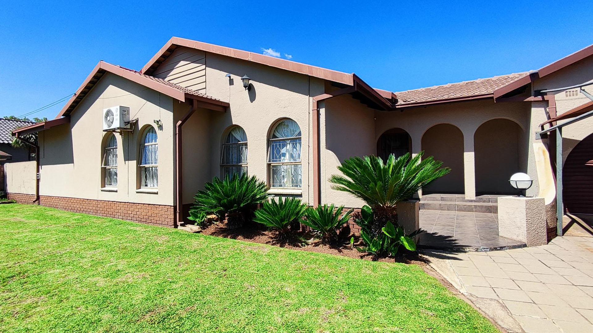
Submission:
[[[99,60],[139,70],[171,36],[273,49],[402,91],[541,68],[593,44],[592,21],[587,1],[4,2],[0,116],[72,94]]]

